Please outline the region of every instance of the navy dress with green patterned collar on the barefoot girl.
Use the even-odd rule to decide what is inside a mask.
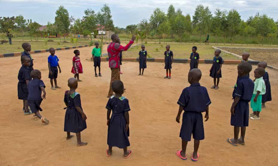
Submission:
[[[82,115],[77,111],[75,107],[81,107],[80,94],[75,92],[68,95],[68,91],[65,92],[64,102],[68,104],[65,113],[64,131],[72,133],[80,133],[87,128],[86,120],[82,119]],[[83,110],[83,109],[82,109]]]

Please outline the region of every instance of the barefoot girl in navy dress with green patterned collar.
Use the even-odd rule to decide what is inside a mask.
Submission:
[[[87,128],[86,115],[81,107],[80,94],[75,92],[77,89],[77,79],[68,79],[68,87],[70,90],[65,92],[64,102],[67,106],[65,113],[64,131],[67,132],[67,140],[73,137],[71,132],[76,133],[77,146],[87,145],[87,142],[81,142],[81,131]]]

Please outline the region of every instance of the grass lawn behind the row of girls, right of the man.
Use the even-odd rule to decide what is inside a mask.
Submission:
[[[146,46],[146,51],[148,52],[149,57],[152,58],[164,58],[164,51],[166,50],[165,47],[167,44],[153,44],[147,43],[144,44]],[[192,52],[193,44],[177,44],[177,43],[169,43],[170,50],[173,51],[175,59],[189,59],[190,54]],[[199,45],[197,46],[197,52],[200,54],[200,59],[213,59],[214,56],[214,49],[212,48],[213,45]],[[227,46],[227,45],[226,45]],[[158,48],[158,51],[156,51]],[[128,51],[123,52],[123,57],[138,57],[138,53],[141,47],[132,47]],[[229,54],[222,54],[223,59],[235,59],[238,60],[239,58],[234,57]]]

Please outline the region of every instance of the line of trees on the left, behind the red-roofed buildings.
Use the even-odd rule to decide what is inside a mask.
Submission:
[[[112,20],[111,10],[107,4],[104,4],[99,12],[88,8],[84,11],[82,18],[75,19],[70,16],[68,10],[65,7],[60,6],[56,10],[56,16],[54,23],[48,22],[44,31],[39,31],[40,25],[36,21],[24,19],[22,15],[16,17],[0,17],[0,32],[13,33],[15,36],[35,37],[38,40],[39,36],[46,37],[48,35],[59,34],[66,37],[66,34],[80,34],[84,36],[93,37],[91,34],[97,35],[97,25],[100,24],[105,29],[114,30],[114,24]]]

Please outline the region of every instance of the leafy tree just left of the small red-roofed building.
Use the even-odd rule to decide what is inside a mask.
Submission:
[[[86,9],[84,11],[85,16],[83,16],[82,22],[80,22],[79,31],[85,32],[83,35],[90,35],[92,40],[92,32],[94,32],[97,28],[97,18],[94,10],[91,10],[90,8]],[[76,28],[78,26],[78,22],[76,22]]]

